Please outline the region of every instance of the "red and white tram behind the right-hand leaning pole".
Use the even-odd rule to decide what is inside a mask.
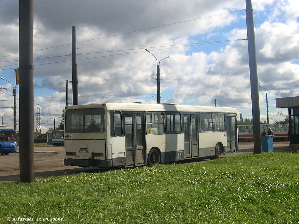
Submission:
[[[289,124],[261,124],[260,132],[266,129],[266,132],[271,128],[274,140],[289,141]],[[253,125],[238,125],[239,141],[253,141]]]

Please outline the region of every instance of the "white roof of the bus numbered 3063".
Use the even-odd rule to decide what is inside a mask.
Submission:
[[[179,112],[213,112],[237,113],[232,107],[209,107],[177,104],[144,104],[144,103],[96,103],[66,106],[65,109],[106,108],[107,111],[179,111]]]

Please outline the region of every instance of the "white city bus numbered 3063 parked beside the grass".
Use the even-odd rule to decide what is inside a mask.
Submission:
[[[64,165],[132,167],[238,149],[235,108],[101,103],[65,107]]]

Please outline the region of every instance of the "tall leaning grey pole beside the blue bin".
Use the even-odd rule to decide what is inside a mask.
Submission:
[[[262,152],[262,142],[260,134],[260,101],[257,79],[257,59],[255,51],[254,21],[251,0],[246,0],[246,24],[248,39],[249,71],[251,86],[252,121],[254,153]]]

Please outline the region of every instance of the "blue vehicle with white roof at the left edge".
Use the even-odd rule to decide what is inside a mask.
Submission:
[[[12,127],[0,125],[0,154],[17,152],[17,132]]]

